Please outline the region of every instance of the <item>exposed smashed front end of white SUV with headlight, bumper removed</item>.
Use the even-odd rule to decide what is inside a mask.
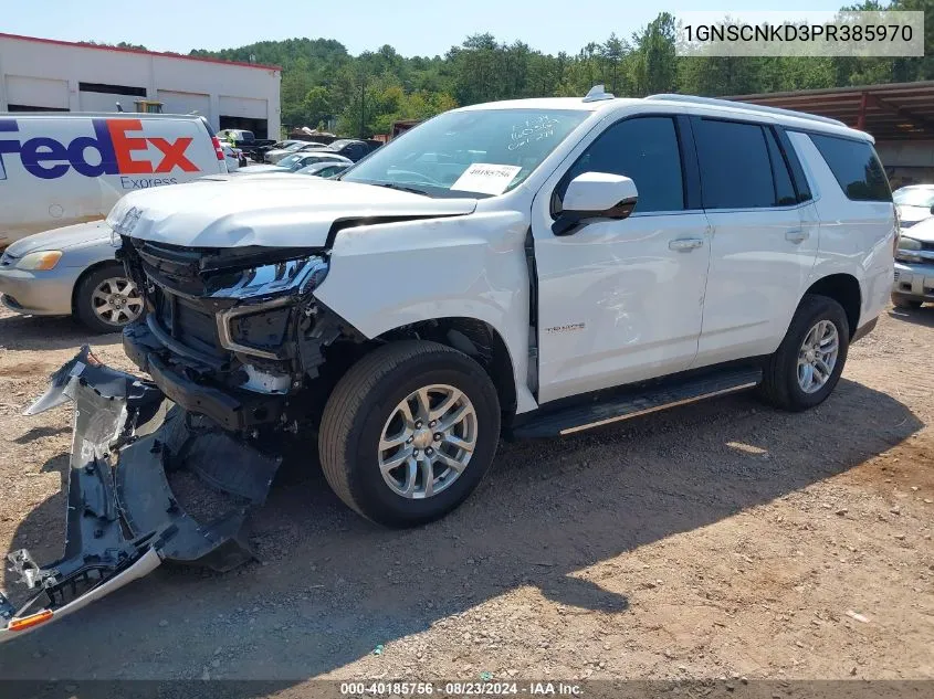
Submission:
[[[294,401],[318,378],[325,349],[355,332],[312,294],[325,253],[124,237],[120,257],[147,311],[124,348],[169,399],[231,432],[297,430],[308,406]]]

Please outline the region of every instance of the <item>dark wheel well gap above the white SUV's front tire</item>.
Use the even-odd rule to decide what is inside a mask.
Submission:
[[[375,339],[385,342],[403,338],[432,340],[476,360],[496,389],[503,414],[515,415],[515,364],[506,341],[492,325],[468,317],[432,318],[393,328]]]

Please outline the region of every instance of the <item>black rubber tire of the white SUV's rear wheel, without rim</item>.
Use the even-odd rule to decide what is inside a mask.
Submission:
[[[837,328],[839,342],[837,363],[823,386],[814,393],[806,393],[798,383],[798,351],[807,333],[820,320],[829,320]],[[827,400],[840,380],[843,366],[847,363],[849,347],[850,324],[843,307],[827,296],[805,296],[795,311],[785,339],[763,367],[760,396],[776,407],[793,412],[819,405]]]

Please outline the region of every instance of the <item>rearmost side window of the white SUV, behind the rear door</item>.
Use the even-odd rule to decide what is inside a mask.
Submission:
[[[810,134],[843,193],[854,201],[892,201],[885,170],[867,141]]]

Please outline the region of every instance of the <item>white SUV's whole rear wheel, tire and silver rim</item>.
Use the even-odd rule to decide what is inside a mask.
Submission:
[[[840,380],[849,346],[843,307],[827,296],[805,296],[785,339],[765,362],[763,398],[790,411],[819,405]]]

